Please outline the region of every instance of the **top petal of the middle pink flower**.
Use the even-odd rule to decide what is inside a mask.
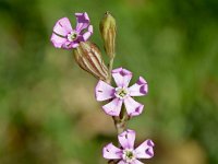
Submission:
[[[118,86],[126,87],[132,79],[132,72],[123,68],[118,68],[112,70],[112,77]]]

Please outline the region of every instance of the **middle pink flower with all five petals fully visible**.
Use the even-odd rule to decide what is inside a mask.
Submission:
[[[106,114],[119,116],[122,104],[124,103],[129,116],[137,116],[143,112],[144,105],[134,101],[131,96],[143,96],[148,92],[147,82],[140,77],[137,82],[128,87],[132,72],[123,68],[112,70],[112,77],[117,87],[112,87],[104,81],[99,81],[95,89],[97,101],[112,99],[110,103],[102,106]]]

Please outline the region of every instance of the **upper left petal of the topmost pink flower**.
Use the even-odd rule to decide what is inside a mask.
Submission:
[[[66,36],[72,32],[72,26],[68,17],[60,19],[53,26],[53,32],[61,36]]]

